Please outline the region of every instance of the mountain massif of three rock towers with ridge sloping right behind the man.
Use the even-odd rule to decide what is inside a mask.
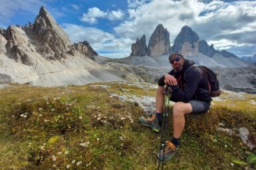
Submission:
[[[203,64],[206,66],[252,66],[252,64],[244,62],[235,54],[228,52],[227,50],[215,50],[213,44],[209,46],[209,44],[205,40],[200,40],[199,35],[197,35],[197,33],[195,33],[195,31],[193,31],[187,25],[182,27],[181,32],[175,38],[173,46],[170,46],[169,32],[167,31],[167,29],[164,29],[163,25],[161,24],[157,25],[151,37],[154,37],[154,41],[152,42],[150,38],[148,46],[145,46],[145,35],[143,35],[143,39],[141,39],[143,43],[140,42],[139,39],[137,39],[137,41],[132,44],[132,52],[130,56],[133,58],[137,56],[149,56],[157,61],[160,61],[157,56],[161,58],[161,56],[169,55],[171,54],[171,52],[182,52],[185,56],[187,56],[187,58],[195,60],[197,64]],[[152,48],[152,44],[157,44],[157,46],[153,46]],[[143,48],[141,45],[143,45]],[[149,48],[151,50],[149,50]],[[160,66],[161,64],[164,64],[163,66],[166,66],[165,62],[167,62],[167,58],[164,58],[163,60],[165,61],[159,62]]]

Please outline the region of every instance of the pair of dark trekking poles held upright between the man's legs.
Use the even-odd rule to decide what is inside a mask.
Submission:
[[[163,165],[165,163],[165,140],[167,137],[167,128],[168,128],[168,116],[169,116],[169,102],[171,98],[171,86],[166,86],[165,91],[165,106],[163,110],[162,116],[162,126],[161,126],[161,142],[160,142],[160,149],[159,149],[159,157],[158,157],[158,165],[157,169],[161,167],[163,169]],[[163,150],[163,158],[161,159],[160,153]]]

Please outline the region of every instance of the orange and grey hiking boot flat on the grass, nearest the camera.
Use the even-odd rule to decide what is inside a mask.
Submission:
[[[171,141],[165,141],[165,156],[163,156],[163,149],[157,153],[158,160],[163,162],[171,159],[171,157],[179,149],[179,145],[175,146]]]

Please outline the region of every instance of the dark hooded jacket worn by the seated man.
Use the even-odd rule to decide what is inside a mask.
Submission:
[[[185,60],[181,72],[174,72],[171,70],[168,74],[174,76],[178,85],[171,86],[171,100],[173,102],[189,102],[190,100],[201,100],[204,102],[211,102],[211,94],[208,91],[207,75],[205,72],[197,67],[189,68],[195,64],[191,60]],[[189,70],[187,70],[189,68]],[[187,72],[185,73],[185,70]],[[184,73],[185,76],[184,77]],[[165,77],[161,77],[158,81],[159,86],[164,86]]]

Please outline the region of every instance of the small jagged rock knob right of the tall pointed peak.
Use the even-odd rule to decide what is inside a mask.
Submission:
[[[72,47],[71,54],[73,55],[75,55],[75,50],[77,50],[77,52],[80,52],[81,54],[84,54],[85,56],[88,56],[92,60],[95,60],[94,56],[98,55],[97,52],[95,52],[95,50],[91,48],[89,42],[87,41],[74,43]]]

